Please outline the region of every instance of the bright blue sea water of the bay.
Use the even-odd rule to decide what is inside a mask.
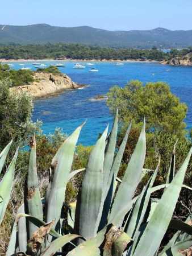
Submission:
[[[56,64],[56,61],[41,61],[45,65]],[[77,126],[87,119],[79,139],[84,145],[94,144],[98,134],[105,130],[107,124],[112,125],[110,112],[105,101],[91,101],[98,94],[106,94],[108,90],[118,85],[124,87],[127,81],[140,80],[165,81],[170,85],[172,93],[186,102],[188,113],[186,117],[187,128],[192,127],[192,67],[168,66],[158,63],[125,62],[124,65],[115,65],[112,62],[98,62],[95,68],[98,73],[90,73],[89,67],[73,69],[74,61],[65,61],[65,67],[60,71],[66,73],[73,81],[88,85],[84,89],[66,90],[51,98],[34,101],[32,119],[43,121],[45,134],[54,133],[60,127],[64,133],[70,134]],[[81,61],[82,64],[84,61]],[[12,63],[11,68],[19,69],[20,63]],[[23,63],[25,67],[35,67],[32,63]]]

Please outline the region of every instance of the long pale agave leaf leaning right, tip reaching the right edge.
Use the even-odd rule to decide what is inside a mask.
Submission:
[[[154,252],[158,249],[166,229],[169,226],[174,208],[176,207],[191,152],[192,147],[180,170],[177,172],[169,187],[164,191],[161,200],[157,204],[157,207],[133,252],[134,256],[139,256],[141,251],[143,255],[153,256]]]

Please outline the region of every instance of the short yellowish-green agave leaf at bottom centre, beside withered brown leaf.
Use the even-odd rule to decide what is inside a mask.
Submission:
[[[78,245],[67,255],[76,255],[76,256],[98,256],[100,255],[99,246],[102,245],[103,240],[105,239],[107,227],[103,228],[97,233],[97,235],[91,237],[89,240]]]

